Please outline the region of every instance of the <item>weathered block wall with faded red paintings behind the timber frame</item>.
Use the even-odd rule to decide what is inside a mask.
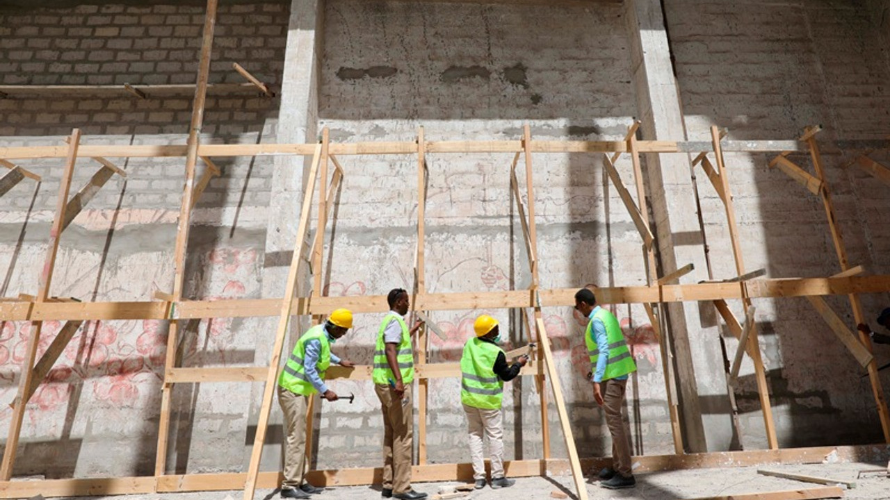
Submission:
[[[667,24],[691,139],[703,139],[712,123],[728,126],[734,139],[787,139],[812,123],[824,124],[827,138],[886,133],[888,96],[881,89],[890,71],[886,60],[870,58],[862,50],[878,40],[865,12],[855,5],[828,2],[749,4],[751,9],[744,11],[738,4],[716,2],[668,5]],[[611,140],[623,136],[636,113],[620,5],[328,0],[322,10],[318,96],[308,93],[318,101],[309,109],[317,105],[318,125],[329,127],[332,141],[412,140],[419,125],[425,127],[427,140],[518,139],[525,123],[534,138]],[[152,78],[158,78],[153,83],[187,83],[194,78],[200,7],[83,5],[0,11],[0,17],[0,60],[7,61],[0,65],[11,65],[0,66],[4,84],[150,83]],[[112,35],[109,28],[118,26]],[[287,4],[223,5],[212,81],[240,81],[229,69],[235,61],[261,79],[278,83],[286,27]],[[108,36],[98,30],[109,30]],[[95,66],[78,70],[77,65],[87,64]],[[81,77],[85,79],[68,79]],[[276,141],[278,106],[278,101],[252,95],[213,96],[206,114],[206,141]],[[5,136],[0,141],[57,144],[71,126],[81,126],[87,133],[85,143],[183,143],[189,108],[190,94],[146,101],[64,96],[0,100],[0,124],[6,124],[0,125],[0,135]],[[100,133],[110,136],[90,137]],[[890,235],[880,224],[890,196],[864,173],[838,169],[842,158],[829,154],[829,176],[851,262],[862,262],[871,272],[890,272]],[[541,286],[643,284],[641,240],[616,191],[603,181],[600,158],[572,154],[533,159]],[[818,199],[782,173],[768,172],[763,155],[728,159],[748,269],[765,267],[771,277],[837,272]],[[333,240],[333,259],[325,270],[328,294],[411,288],[417,158],[340,160],[346,177],[333,229],[328,227],[328,241]],[[529,285],[522,228],[508,190],[511,160],[510,155],[428,155],[429,291]],[[45,181],[39,187],[23,181],[0,198],[0,241],[7,269],[0,295],[5,296],[36,290],[61,170],[59,162],[22,164],[44,174]],[[263,270],[270,265],[263,250],[272,216],[267,209],[272,162],[239,158],[221,165],[223,178],[211,183],[195,213],[189,295],[269,295],[263,290]],[[148,300],[155,289],[169,290],[182,160],[131,160],[125,167],[128,181],[109,181],[62,238],[53,294]],[[618,167],[631,185],[627,158]],[[89,162],[79,163],[75,186],[93,168]],[[523,179],[522,161],[518,173]],[[702,178],[699,188],[715,278],[729,278],[734,271],[724,214]],[[692,238],[692,245],[698,244]],[[706,278],[705,270],[696,270],[684,282]],[[881,299],[886,297],[865,297],[870,316]],[[845,302],[831,303],[849,316]],[[813,317],[806,302],[756,305],[782,446],[878,440],[867,382],[858,378],[852,357]],[[738,304],[732,306],[740,314]],[[433,361],[457,359],[481,312],[494,314],[509,327],[511,345],[526,342],[521,321],[506,311],[441,311],[433,319],[447,339],[433,337]],[[658,344],[642,308],[622,306],[615,312],[640,368],[628,404],[635,450],[669,453],[673,446]],[[359,316],[335,351],[368,362],[380,319]],[[583,321],[574,318],[570,308],[546,308],[545,320],[554,337],[580,455],[605,455],[611,444],[608,431],[582,379],[587,372]],[[708,411],[708,448],[726,449],[732,429],[715,325],[707,311],[700,325],[690,325],[690,337]],[[59,327],[49,325],[47,330]],[[261,345],[272,327],[269,322],[238,319],[202,323],[187,342],[183,364],[262,365],[267,355]],[[15,391],[14,374],[28,329],[6,323],[0,331],[0,402],[5,403]],[[150,473],[164,351],[160,332],[166,332],[164,326],[153,322],[110,322],[93,324],[78,335],[53,373],[55,383],[44,385],[28,409],[16,473]],[[734,350],[734,342],[727,343]],[[813,343],[823,348],[814,350]],[[881,349],[876,351],[879,362],[888,354]],[[753,370],[747,361],[742,370],[741,441],[746,448],[763,448]],[[531,385],[530,379],[513,383],[506,393],[508,457],[541,454],[538,395]],[[315,465],[378,464],[380,416],[370,384],[334,382],[332,387],[354,392],[357,399],[352,406],[323,406]],[[457,381],[433,381],[430,392],[430,461],[465,461]],[[182,424],[174,429],[171,470],[241,470],[253,436],[256,388],[205,384],[178,388],[174,395]],[[0,411],[0,422],[8,421],[9,410]],[[554,408],[550,421],[554,456],[563,456]],[[264,460],[269,469],[277,466],[278,427],[270,440]]]

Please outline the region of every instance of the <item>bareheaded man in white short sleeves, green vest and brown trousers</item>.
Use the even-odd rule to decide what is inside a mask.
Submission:
[[[411,489],[411,452],[414,449],[414,407],[407,394],[414,382],[414,349],[411,335],[423,321],[410,328],[405,324],[408,314],[408,292],[394,288],[386,296],[390,312],[386,314],[374,350],[374,390],[384,415],[384,498],[423,500],[425,493]],[[407,394],[406,394],[407,393]]]

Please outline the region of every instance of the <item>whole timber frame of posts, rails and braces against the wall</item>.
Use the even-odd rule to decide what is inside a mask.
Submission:
[[[421,127],[417,133],[417,141],[391,142],[358,142],[332,143],[328,130],[322,131],[320,141],[299,144],[200,144],[200,131],[203,124],[204,104],[210,85],[207,83],[210,68],[210,53],[213,47],[214,25],[217,0],[208,0],[206,20],[203,32],[198,79],[193,85],[195,90],[190,133],[185,145],[84,145],[81,134],[75,129],[67,144],[44,147],[0,147],[0,165],[11,169],[14,178],[8,184],[27,176],[40,181],[39,177],[28,174],[24,169],[10,163],[10,159],[29,158],[64,158],[65,168],[57,200],[57,207],[50,231],[49,246],[44,268],[39,277],[38,293],[34,297],[0,300],[0,320],[20,320],[31,322],[31,335],[28,338],[26,356],[21,368],[20,385],[13,403],[12,423],[9,437],[4,448],[2,466],[0,466],[0,497],[18,498],[42,494],[44,496],[90,496],[115,495],[129,493],[200,491],[220,489],[244,489],[245,500],[251,500],[255,488],[274,488],[279,484],[279,472],[260,472],[260,458],[263,443],[271,414],[271,404],[275,388],[275,380],[279,373],[279,362],[291,320],[295,316],[314,317],[320,321],[324,315],[339,307],[346,307],[355,313],[376,313],[386,310],[382,296],[360,297],[328,297],[324,296],[324,235],[328,224],[328,214],[332,213],[337,187],[344,182],[346,173],[337,157],[350,155],[417,155],[417,254],[415,263],[415,284],[412,290],[412,307],[418,316],[430,310],[472,310],[472,309],[521,309],[526,333],[530,341],[537,342],[537,356],[522,375],[535,377],[541,403],[543,456],[537,460],[513,461],[506,464],[507,472],[512,476],[530,476],[548,473],[571,472],[578,491],[578,498],[587,500],[587,488],[583,478],[582,467],[605,464],[603,459],[580,459],[571,434],[569,416],[562,396],[560,379],[556,376],[553,353],[542,319],[543,307],[572,306],[577,288],[542,289],[538,277],[538,239],[535,216],[535,184],[532,158],[535,153],[565,152],[603,154],[603,165],[611,183],[619,191],[619,196],[627,207],[635,227],[640,232],[643,247],[643,261],[646,265],[646,286],[616,286],[595,288],[601,302],[605,303],[642,303],[646,314],[659,340],[662,357],[662,368],[665,370],[667,405],[671,420],[671,428],[675,444],[675,455],[671,456],[640,456],[637,469],[658,471],[685,467],[706,467],[726,465],[749,465],[766,462],[805,463],[821,462],[825,455],[838,448],[796,448],[779,449],[770,407],[769,390],[765,378],[763,361],[757,343],[755,308],[751,299],[758,297],[795,297],[805,296],[813,306],[829,322],[829,326],[857,360],[867,367],[870,382],[877,402],[878,414],[884,431],[886,442],[890,442],[890,415],[887,413],[886,401],[878,380],[877,368],[871,356],[870,339],[860,333],[857,339],[853,330],[844,325],[830,308],[821,300],[821,295],[847,294],[854,310],[857,323],[863,322],[862,305],[856,294],[879,293],[890,291],[890,276],[857,276],[862,268],[851,268],[846,259],[845,247],[835,220],[834,208],[831,204],[829,185],[826,181],[821,154],[815,140],[818,128],[807,129],[803,137],[793,141],[724,141],[724,134],[713,127],[711,141],[642,141],[638,140],[638,122],[628,127],[627,136],[623,141],[536,141],[530,133],[530,126],[523,128],[522,139],[515,141],[428,141]],[[262,82],[255,80],[237,64],[234,69],[239,71],[252,85],[266,96],[272,95],[271,90]],[[138,88],[125,85],[126,92],[139,98],[145,98]],[[192,88],[191,86],[189,88]],[[890,149],[890,141],[837,141],[838,147],[844,149]],[[801,182],[813,195],[820,196],[829,220],[829,229],[834,239],[841,272],[827,278],[758,278],[758,273],[746,273],[741,254],[738,226],[735,220],[732,194],[730,190],[729,170],[724,162],[724,151],[781,151],[773,159],[771,165],[778,166],[794,179]],[[805,169],[793,164],[789,153],[794,151],[808,152],[813,160],[816,175],[806,173]],[[449,153],[514,153],[510,166],[510,189],[512,201],[516,203],[522,238],[529,259],[530,287],[524,290],[506,292],[465,292],[449,294],[431,294],[425,288],[425,200],[428,154]],[[668,272],[659,277],[656,271],[655,237],[648,220],[646,193],[643,185],[643,170],[640,155],[643,153],[696,153],[699,156],[693,165],[701,165],[712,182],[717,195],[724,203],[730,237],[732,254],[738,276],[724,281],[711,281],[695,285],[673,284],[678,278],[692,270],[685,266],[679,270]],[[610,155],[611,154],[611,155]],[[636,200],[623,184],[616,162],[622,154],[630,158],[636,190]],[[714,163],[708,154],[715,157]],[[867,154],[867,153],[866,153]],[[298,229],[294,243],[294,253],[287,274],[287,287],[278,299],[249,300],[184,300],[182,297],[183,275],[185,272],[186,251],[190,229],[190,213],[196,200],[205,189],[207,182],[214,174],[219,174],[211,158],[236,156],[268,156],[289,155],[312,157],[307,178],[303,205],[300,212]],[[93,175],[91,181],[69,201],[71,179],[78,157],[90,157],[102,166]],[[175,274],[172,293],[156,293],[149,300],[138,302],[77,302],[69,299],[56,299],[50,295],[53,278],[53,267],[59,247],[61,231],[74,219],[80,209],[85,206],[96,190],[117,173],[125,173],[106,157],[182,157],[185,158],[184,185],[182,205],[179,214],[179,226],[174,250]],[[520,158],[524,161],[525,186],[523,188],[516,169]],[[859,165],[868,167],[865,155],[857,160]],[[197,163],[201,159],[206,170],[198,178]],[[870,160],[869,160],[870,161]],[[329,172],[329,164],[333,163],[334,171]],[[873,165],[871,165],[873,166]],[[18,170],[17,170],[18,169]],[[882,178],[882,173],[872,168],[871,173]],[[328,181],[328,176],[330,180]],[[0,179],[0,186],[4,185]],[[11,187],[11,186],[10,186]],[[8,190],[8,189],[7,189]],[[0,190],[0,196],[5,190]],[[318,196],[317,228],[314,241],[305,245],[308,235],[312,201]],[[303,289],[303,266],[311,265],[312,294],[300,296],[297,290]],[[156,300],[151,300],[156,299]],[[732,315],[727,300],[740,300],[746,310],[746,319],[742,326]],[[740,339],[739,350],[735,353],[731,373],[727,375],[727,384],[732,392],[734,380],[738,375],[740,359],[744,353],[752,359],[755,366],[757,391],[764,414],[766,436],[769,450],[745,452],[721,452],[708,454],[684,454],[683,436],[679,422],[676,401],[676,381],[673,367],[668,361],[670,352],[669,333],[660,328],[659,308],[667,302],[713,302],[716,310],[726,321],[730,332]],[[271,350],[271,359],[265,367],[177,367],[176,346],[180,323],[188,319],[214,319],[234,317],[278,316],[279,323]],[[66,321],[60,333],[44,354],[36,360],[36,352],[41,334],[41,326],[46,320]],[[37,386],[42,383],[61,351],[73,337],[82,322],[89,320],[112,319],[166,319],[170,321],[170,332],[167,338],[166,366],[160,420],[158,429],[158,453],[156,456],[155,473],[153,476],[113,479],[70,479],[70,480],[39,480],[12,481],[12,471],[20,439],[20,428],[25,407]],[[431,330],[435,330],[430,325]],[[418,379],[418,456],[414,468],[415,480],[465,480],[471,476],[469,464],[427,464],[425,443],[427,413],[427,383],[431,378],[458,377],[460,370],[457,363],[428,363],[430,343],[429,335],[422,329],[417,335],[417,379]],[[36,362],[36,363],[35,363]],[[370,380],[371,367],[357,366],[354,368],[331,367],[328,379]],[[568,461],[554,459],[550,453],[550,428],[547,418],[546,381],[549,381],[554,404],[559,416],[562,437],[568,449]],[[259,422],[255,434],[255,442],[247,472],[222,474],[167,474],[166,456],[167,440],[171,419],[170,399],[174,383],[214,383],[214,382],[249,382],[264,383],[263,401],[259,413]],[[732,394],[731,394],[732,395]],[[312,417],[312,406],[307,418]],[[312,433],[312,424],[307,425],[308,433]],[[312,436],[308,436],[311,438]],[[312,443],[312,439],[307,439]],[[311,446],[311,445],[310,445]],[[842,448],[846,456],[865,453],[869,447]],[[886,449],[885,449],[886,452]],[[312,450],[307,447],[307,453]],[[354,485],[368,484],[379,479],[381,471],[375,468],[343,469],[336,471],[312,471],[313,482],[323,485]]]

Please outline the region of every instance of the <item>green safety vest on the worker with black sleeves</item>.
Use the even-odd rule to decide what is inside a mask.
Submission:
[[[466,341],[460,358],[460,401],[468,407],[500,409],[504,381],[495,375],[495,360],[504,352],[494,343],[478,338]]]

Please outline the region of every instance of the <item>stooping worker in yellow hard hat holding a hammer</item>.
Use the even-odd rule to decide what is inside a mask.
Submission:
[[[324,488],[316,488],[305,482],[309,471],[306,460],[306,408],[314,394],[328,401],[336,401],[336,392],[324,383],[325,371],[331,362],[341,367],[352,367],[352,362],[337,358],[331,352],[331,344],[346,335],[352,328],[352,312],[338,309],[331,313],[322,325],[316,325],[296,341],[294,351],[287,359],[279,375],[279,405],[284,412],[287,441],[284,447],[284,481],[281,482],[282,498],[309,498]]]

